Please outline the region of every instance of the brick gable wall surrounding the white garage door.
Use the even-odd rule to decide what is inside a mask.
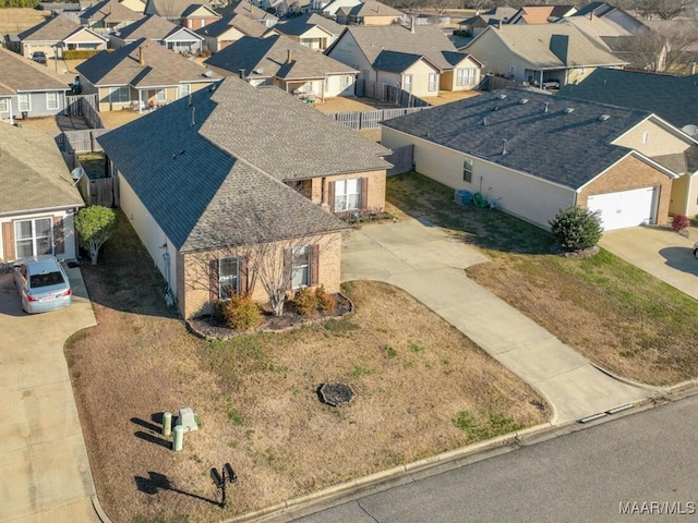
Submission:
[[[586,208],[587,198],[593,194],[615,193],[642,187],[659,187],[657,224],[667,223],[672,179],[633,156],[626,157],[603,175],[585,186],[577,196],[577,205]]]

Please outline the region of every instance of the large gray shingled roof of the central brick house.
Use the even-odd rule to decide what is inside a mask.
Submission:
[[[234,233],[251,216],[266,224],[261,241],[342,230],[282,181],[389,166],[384,147],[280,89],[236,77],[192,94],[191,107],[178,100],[98,141],[182,252],[224,244],[221,231],[225,243],[243,243],[246,233]]]

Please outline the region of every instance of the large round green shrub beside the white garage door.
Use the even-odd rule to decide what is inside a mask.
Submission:
[[[601,240],[601,217],[598,212],[570,205],[550,221],[551,232],[563,251],[591,248]]]

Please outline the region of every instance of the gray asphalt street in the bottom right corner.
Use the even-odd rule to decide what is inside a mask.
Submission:
[[[294,521],[698,521],[697,426],[693,396]]]

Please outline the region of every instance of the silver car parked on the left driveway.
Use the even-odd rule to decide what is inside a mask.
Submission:
[[[22,308],[29,314],[63,308],[72,302],[70,280],[56,256],[47,254],[17,259],[14,284],[20,291]]]

